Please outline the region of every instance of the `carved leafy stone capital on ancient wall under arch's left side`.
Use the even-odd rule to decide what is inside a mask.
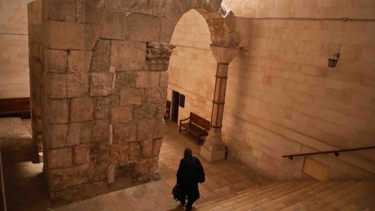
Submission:
[[[174,44],[169,43],[148,43],[146,55],[148,71],[167,71],[169,58],[175,47]]]

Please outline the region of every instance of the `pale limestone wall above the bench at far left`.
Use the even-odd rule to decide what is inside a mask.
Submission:
[[[0,0],[0,98],[29,97],[27,3]]]

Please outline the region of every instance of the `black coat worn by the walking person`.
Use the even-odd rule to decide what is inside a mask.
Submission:
[[[182,187],[182,191],[187,198],[193,201],[199,199],[198,175],[202,173],[203,167],[198,158],[186,156],[180,161],[177,170],[177,184]]]

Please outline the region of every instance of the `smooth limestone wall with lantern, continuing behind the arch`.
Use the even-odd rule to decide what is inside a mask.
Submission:
[[[273,17],[375,18],[374,1],[330,2],[229,0],[228,7],[250,18],[269,17],[266,10],[294,11]],[[246,15],[246,9],[255,15]],[[309,12],[297,12],[302,10]],[[210,119],[215,65],[208,53],[208,28],[198,27],[202,20],[190,11],[173,34],[177,47],[170,60],[168,98],[171,90],[187,95],[179,119],[190,111]],[[248,55],[238,55],[229,65],[223,136],[230,155],[287,179],[303,176],[304,158],[290,161],[282,155],[375,145],[374,21],[247,19],[237,24],[249,30],[248,37],[242,33]],[[339,49],[340,61],[329,68],[327,59]],[[311,158],[330,168],[330,178],[374,178],[372,150]]]

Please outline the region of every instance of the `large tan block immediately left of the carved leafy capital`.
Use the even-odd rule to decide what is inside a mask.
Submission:
[[[145,66],[146,43],[112,41],[111,65],[116,71],[141,70]]]

